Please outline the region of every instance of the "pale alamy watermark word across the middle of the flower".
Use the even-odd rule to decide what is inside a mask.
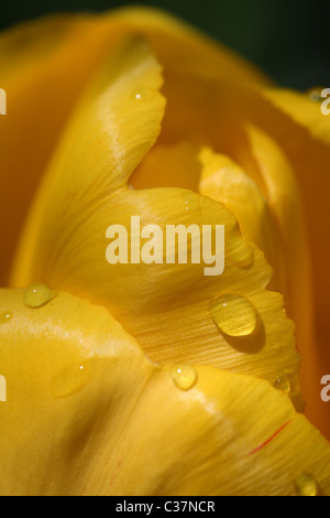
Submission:
[[[213,227],[215,239],[212,225],[201,225],[201,230],[198,225],[166,225],[164,237],[161,226],[145,225],[141,228],[140,216],[131,216],[130,233],[123,225],[107,228],[106,237],[112,241],[107,247],[106,258],[109,265],[186,265],[190,249],[191,263],[208,265],[204,268],[205,276],[221,276],[224,270],[224,225]],[[146,242],[141,246],[142,239]]]

